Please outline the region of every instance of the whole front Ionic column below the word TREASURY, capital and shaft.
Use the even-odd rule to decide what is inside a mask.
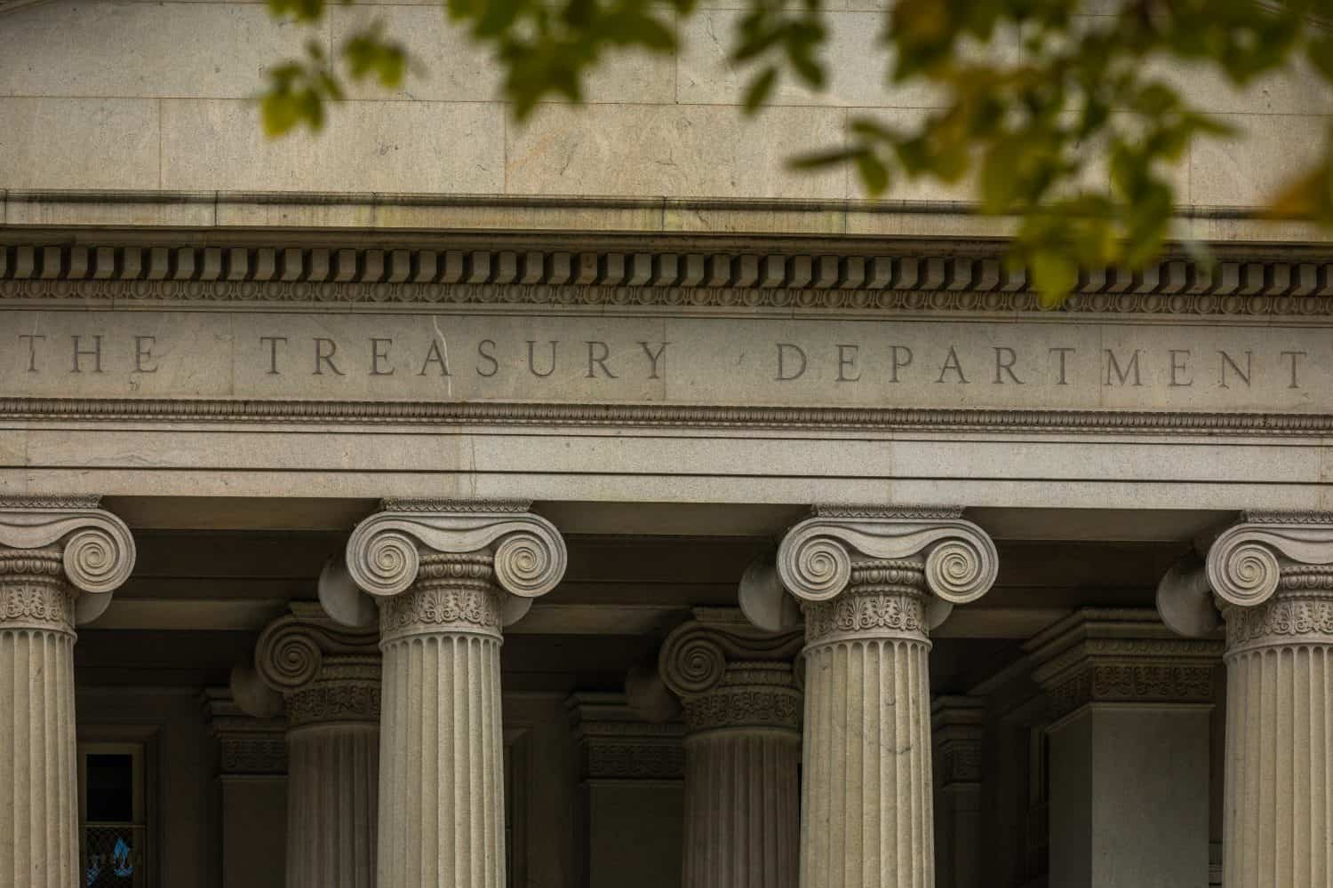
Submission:
[[[501,626],[565,571],[528,503],[388,501],[347,568],[380,607],[379,888],[503,888]]]

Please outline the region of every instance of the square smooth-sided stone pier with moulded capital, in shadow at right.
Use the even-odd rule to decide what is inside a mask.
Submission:
[[[1206,884],[1221,643],[1150,610],[1085,608],[1026,650],[1050,702],[1050,884]]]

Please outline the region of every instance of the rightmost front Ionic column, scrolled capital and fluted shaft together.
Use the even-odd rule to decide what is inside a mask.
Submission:
[[[1333,514],[1250,513],[1174,570],[1158,606],[1200,590],[1226,623],[1226,888],[1333,884]],[[1165,612],[1164,612],[1165,618]],[[1169,620],[1170,622],[1170,620]]]

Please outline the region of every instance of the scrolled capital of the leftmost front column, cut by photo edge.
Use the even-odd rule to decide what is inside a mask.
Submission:
[[[88,622],[101,615],[111,603],[111,592],[135,567],[135,539],[125,522],[99,503],[97,497],[0,498],[0,576],[55,579],[59,575],[84,592],[69,615],[72,619]],[[29,588],[28,604],[51,598],[39,591]],[[32,608],[19,607],[9,595],[0,619],[9,611],[21,616],[17,611],[28,610]]]

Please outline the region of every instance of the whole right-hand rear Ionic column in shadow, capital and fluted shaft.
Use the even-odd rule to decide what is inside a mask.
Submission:
[[[800,632],[700,608],[659,671],[685,710],[684,888],[796,888]]]

